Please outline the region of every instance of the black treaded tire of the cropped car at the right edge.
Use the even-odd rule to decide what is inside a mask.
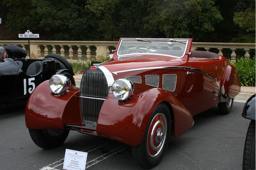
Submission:
[[[251,120],[245,138],[243,170],[248,169],[255,169],[255,120]]]

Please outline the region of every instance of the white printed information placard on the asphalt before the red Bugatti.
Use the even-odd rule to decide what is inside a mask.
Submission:
[[[84,170],[86,165],[87,152],[66,149],[63,169]]]

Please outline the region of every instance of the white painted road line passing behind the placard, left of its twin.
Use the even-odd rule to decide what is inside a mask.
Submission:
[[[91,147],[88,147],[88,148],[86,148],[84,150],[81,150],[81,152],[87,152],[88,153],[88,152],[91,152],[91,151],[93,151],[93,150],[95,150],[97,148],[100,148],[100,147],[102,147],[102,146],[104,146],[106,144],[109,144],[111,142],[113,142],[113,141],[111,140],[111,141],[106,142],[106,143],[105,143],[105,141],[103,141],[103,142],[101,142],[99,144],[95,144],[95,145],[93,145]],[[112,151],[110,151],[110,152],[112,152]],[[61,160],[58,160],[56,162],[53,162],[53,163],[51,163],[49,165],[46,165],[45,167],[41,168],[40,170],[58,170],[58,169],[55,169],[55,168],[60,166],[60,165],[62,165],[63,163],[64,163],[64,158],[61,159]]]

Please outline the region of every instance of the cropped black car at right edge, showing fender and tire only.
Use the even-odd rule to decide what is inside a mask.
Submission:
[[[251,120],[245,138],[243,170],[255,169],[255,94],[245,103],[242,117]]]

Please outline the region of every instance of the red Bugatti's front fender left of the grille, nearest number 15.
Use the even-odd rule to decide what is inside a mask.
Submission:
[[[73,85],[69,92],[55,97],[44,81],[30,95],[25,111],[28,129],[64,129],[64,123],[81,126],[79,89]]]

